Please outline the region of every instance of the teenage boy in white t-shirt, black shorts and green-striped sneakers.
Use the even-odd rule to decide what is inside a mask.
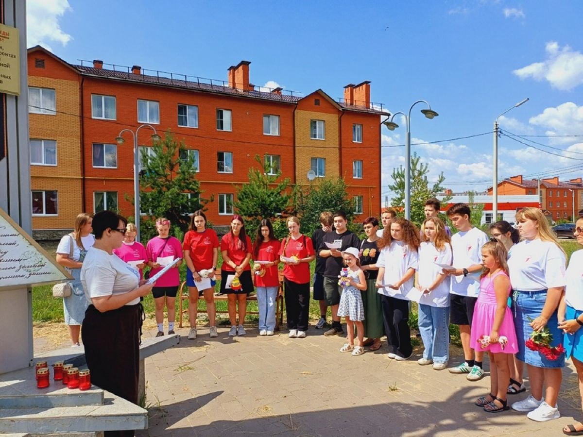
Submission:
[[[451,294],[450,321],[459,326],[459,338],[462,340],[465,362],[450,368],[451,373],[468,373],[470,381],[482,379],[483,353],[476,352],[473,359],[473,348],[470,345],[470,326],[472,326],[473,310],[477,295],[480,292],[480,272],[482,272],[482,246],[488,237],[470,223],[470,207],[465,203],[456,203],[447,211],[447,216],[459,231],[451,237],[451,248],[454,252],[453,267],[447,270],[451,276],[449,292]]]

